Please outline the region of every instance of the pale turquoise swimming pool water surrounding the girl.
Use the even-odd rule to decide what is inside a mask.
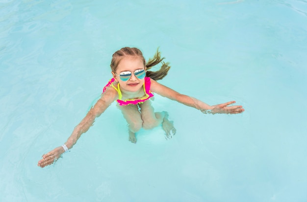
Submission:
[[[306,17],[306,0],[2,0],[0,201],[306,201]],[[177,134],[143,130],[134,145],[112,105],[70,153],[37,167],[123,46],[147,59],[160,46],[172,65],[162,84],[246,111],[208,115],[155,96]]]

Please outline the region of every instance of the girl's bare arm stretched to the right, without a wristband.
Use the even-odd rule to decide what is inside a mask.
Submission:
[[[171,100],[175,100],[181,104],[184,104],[189,107],[201,110],[202,112],[208,113],[242,113],[244,109],[242,106],[228,106],[235,103],[235,101],[230,101],[224,104],[210,106],[205,102],[202,102],[194,97],[188,95],[180,94],[179,92],[170,89],[162,84],[151,79],[151,91],[155,92],[163,97],[167,97]]]

